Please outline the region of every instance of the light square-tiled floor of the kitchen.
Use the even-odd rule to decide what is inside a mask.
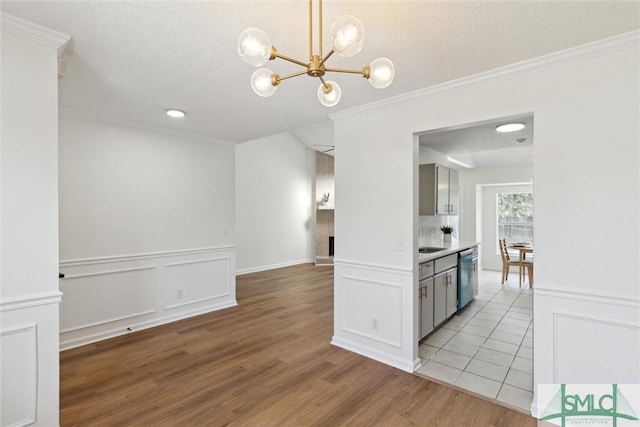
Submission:
[[[421,344],[418,373],[529,413],[533,290],[517,274],[483,270],[476,299]]]

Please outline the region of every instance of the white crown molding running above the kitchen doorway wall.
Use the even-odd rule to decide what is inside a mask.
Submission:
[[[460,79],[450,80],[444,83],[426,87],[424,89],[418,89],[413,92],[404,93],[402,95],[392,96],[373,103],[342,110],[336,113],[329,114],[329,118],[331,120],[335,120],[342,117],[348,117],[353,114],[399,104],[413,98],[457,92],[465,90],[473,85],[486,84],[499,80],[507,80],[522,74],[530,73],[540,68],[546,68],[564,62],[579,61],[589,57],[606,55],[608,53],[616,52],[621,49],[638,49],[638,44],[640,44],[640,30],[630,31],[627,33],[619,34],[617,36],[597,40],[595,42],[572,47],[558,52],[553,52],[547,55],[539,56],[537,58],[516,62],[504,67],[495,68],[493,70],[473,74],[471,76],[463,77]]]

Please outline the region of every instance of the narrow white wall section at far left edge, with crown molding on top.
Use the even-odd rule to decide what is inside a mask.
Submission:
[[[0,424],[58,425],[58,48],[2,14]]]

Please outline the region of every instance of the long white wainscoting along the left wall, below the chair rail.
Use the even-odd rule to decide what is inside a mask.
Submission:
[[[60,262],[60,347],[236,305],[232,246]]]

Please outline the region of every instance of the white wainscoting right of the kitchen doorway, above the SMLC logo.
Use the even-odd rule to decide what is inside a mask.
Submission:
[[[537,384],[640,383],[640,301],[606,290],[534,287],[534,400]]]

